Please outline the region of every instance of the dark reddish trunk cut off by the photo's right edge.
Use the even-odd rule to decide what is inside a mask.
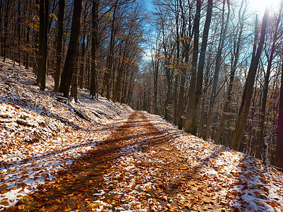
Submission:
[[[282,55],[283,70],[283,55]],[[277,141],[275,149],[275,165],[283,169],[283,71],[281,71],[281,88],[279,101],[279,116],[277,125]]]

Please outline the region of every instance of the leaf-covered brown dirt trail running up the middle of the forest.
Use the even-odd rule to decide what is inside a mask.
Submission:
[[[6,211],[230,211],[145,112]],[[210,189],[210,190],[209,190]]]

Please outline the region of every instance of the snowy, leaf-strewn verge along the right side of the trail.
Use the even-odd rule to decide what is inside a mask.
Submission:
[[[230,148],[175,129],[161,117],[149,115],[160,130],[171,130],[172,145],[198,174],[207,178],[215,198],[243,211],[283,211],[283,174],[261,161]]]

